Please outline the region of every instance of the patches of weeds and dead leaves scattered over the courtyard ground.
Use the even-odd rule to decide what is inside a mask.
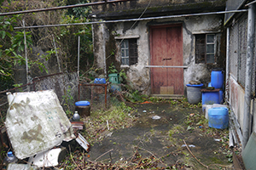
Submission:
[[[137,146],[134,150],[134,154],[123,160],[117,162],[103,162],[103,161],[91,161],[90,153],[84,153],[82,150],[71,152],[68,158],[63,161],[61,167],[65,169],[183,169],[185,167],[191,167],[195,162],[189,151],[184,150],[181,147],[183,141],[178,139],[178,136],[183,136],[185,133],[201,132],[208,137],[214,137],[214,139],[220,139],[223,144],[223,148],[216,152],[216,155],[223,154],[229,161],[232,160],[231,151],[228,148],[228,130],[219,130],[215,128],[209,128],[207,126],[207,120],[205,117],[198,112],[201,109],[201,104],[190,105],[187,99],[160,99],[160,98],[143,98],[143,104],[160,104],[168,103],[173,108],[180,108],[184,110],[190,110],[186,116],[186,119],[181,124],[174,124],[172,129],[166,133],[165,139],[169,139],[173,145],[176,145],[177,150],[166,154],[166,156],[157,157],[151,153],[151,156],[144,157],[140,151],[148,151]],[[138,105],[139,102],[134,103]],[[133,106],[135,106],[133,105]],[[114,99],[112,107],[108,110],[97,110],[91,113],[91,116],[84,117],[84,123],[86,129],[83,135],[92,144],[101,144],[102,139],[112,135],[114,130],[119,128],[128,128],[133,126],[137,122],[137,110],[127,105],[124,102],[119,102]],[[136,108],[136,106],[135,106]],[[165,133],[156,133],[154,129],[150,132],[145,133],[140,139],[137,139],[143,143],[150,142],[150,139],[157,135],[164,135]],[[115,142],[113,141],[113,144]],[[172,146],[170,146],[172,147]],[[166,165],[165,160],[172,159],[171,156],[183,156],[182,160],[178,160],[175,164]],[[210,169],[225,169],[220,164],[213,163]],[[193,166],[192,166],[193,167]],[[224,167],[224,168],[222,168]]]

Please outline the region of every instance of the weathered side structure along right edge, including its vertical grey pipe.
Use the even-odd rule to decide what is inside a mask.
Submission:
[[[248,8],[237,14],[226,14],[227,29],[227,77],[226,102],[230,105],[239,142],[245,149],[251,133],[256,133],[255,103],[255,4],[253,1],[227,1],[227,10]],[[246,3],[248,5],[246,5]],[[234,116],[234,117],[233,117]]]

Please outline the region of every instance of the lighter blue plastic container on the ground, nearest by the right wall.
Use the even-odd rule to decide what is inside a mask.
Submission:
[[[208,110],[208,126],[224,129],[229,127],[229,110],[226,107],[213,107]]]

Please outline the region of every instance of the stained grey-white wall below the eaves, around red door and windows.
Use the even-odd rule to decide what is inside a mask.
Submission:
[[[195,64],[195,34],[199,33],[217,33],[217,58],[225,57],[220,53],[221,31],[223,26],[222,15],[201,15],[195,17],[182,17],[165,20],[144,20],[138,21],[134,26],[134,22],[119,22],[102,25],[95,25],[94,27],[94,48],[95,58],[98,67],[104,67],[104,58],[106,58],[106,68],[111,62],[115,63],[119,71],[125,69],[126,75],[132,82],[134,89],[137,89],[144,94],[150,94],[150,69],[144,67],[150,65],[150,48],[149,48],[149,26],[168,25],[173,23],[183,24],[183,65],[187,65],[188,69],[184,69],[184,87],[190,80],[204,82],[211,81],[211,69],[217,67],[215,65]],[[131,26],[132,29],[131,29]],[[105,33],[102,33],[105,31]],[[119,67],[119,42],[113,37],[131,37],[137,36],[138,45],[138,63],[129,67]],[[106,42],[106,44],[105,44]],[[111,56],[106,50],[115,44],[115,54]],[[104,45],[106,50],[104,51]],[[223,44],[224,45],[224,44]],[[104,56],[104,54],[106,56]]]

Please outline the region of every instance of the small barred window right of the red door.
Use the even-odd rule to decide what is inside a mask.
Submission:
[[[215,63],[215,34],[195,35],[195,63]]]

